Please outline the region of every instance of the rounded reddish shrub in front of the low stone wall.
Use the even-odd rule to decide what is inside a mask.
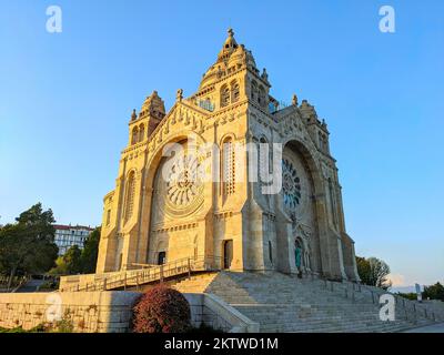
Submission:
[[[179,292],[157,286],[143,294],[133,307],[134,333],[184,333],[191,328],[190,305]]]

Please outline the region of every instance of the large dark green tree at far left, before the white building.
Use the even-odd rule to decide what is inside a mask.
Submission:
[[[44,273],[53,266],[58,254],[54,222],[52,211],[43,211],[38,203],[0,230],[0,268],[9,274],[8,287],[18,272]]]

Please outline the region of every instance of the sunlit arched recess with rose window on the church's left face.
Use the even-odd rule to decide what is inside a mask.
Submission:
[[[168,252],[169,262],[198,256],[196,236],[181,226],[203,205],[203,168],[193,142],[174,143],[153,173],[148,264],[159,264],[160,252]]]

